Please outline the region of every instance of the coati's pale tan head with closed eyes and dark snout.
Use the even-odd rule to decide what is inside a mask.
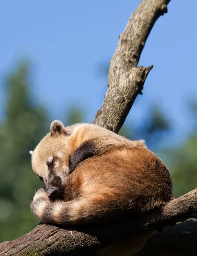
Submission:
[[[69,176],[71,147],[68,137],[71,131],[55,120],[51,123],[50,133],[30,151],[34,173],[43,181],[49,198],[56,198],[66,186]]]

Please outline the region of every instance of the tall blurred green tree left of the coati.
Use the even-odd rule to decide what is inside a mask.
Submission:
[[[31,156],[46,133],[47,117],[29,93],[29,64],[21,64],[5,83],[6,119],[0,125],[0,241],[31,230],[38,220],[29,202],[40,181],[31,174]]]

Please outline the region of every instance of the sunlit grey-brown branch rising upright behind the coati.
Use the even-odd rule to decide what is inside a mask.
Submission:
[[[93,123],[116,133],[120,130],[153,67],[137,67],[137,63],[155,21],[167,12],[169,1],[143,0],[131,15],[110,61],[108,90]]]

